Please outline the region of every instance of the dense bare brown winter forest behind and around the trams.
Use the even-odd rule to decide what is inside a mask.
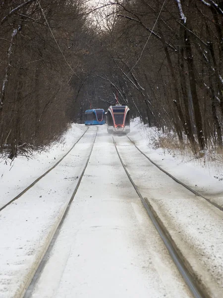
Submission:
[[[116,98],[197,156],[223,149],[222,0],[0,0],[0,24],[2,156]]]

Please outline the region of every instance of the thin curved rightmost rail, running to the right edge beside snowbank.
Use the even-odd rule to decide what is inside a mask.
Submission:
[[[175,178],[174,176],[172,176],[170,173],[168,173],[166,170],[164,170],[161,166],[159,166],[155,161],[153,161],[149,156],[147,156],[142,150],[140,150],[138,148],[138,146],[135,145],[135,143],[128,137],[126,136],[129,141],[135,146],[136,149],[138,149],[147,159],[149,159],[150,162],[152,162],[156,167],[158,167],[162,172],[164,172],[165,174],[167,174],[170,178],[172,178],[175,182],[181,184],[182,186],[184,186],[185,188],[187,188],[189,191],[191,191],[193,194],[195,194],[198,197],[201,197],[203,199],[205,199],[206,201],[208,201],[210,204],[212,204],[213,206],[215,206],[216,208],[218,208],[219,210],[223,211],[223,207],[218,205],[215,202],[212,202],[210,199],[202,196],[200,193],[198,193],[196,190],[190,188],[188,185],[184,184],[183,182],[181,182],[180,180],[178,180],[177,178]]]

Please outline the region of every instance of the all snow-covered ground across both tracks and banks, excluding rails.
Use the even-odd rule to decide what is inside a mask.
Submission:
[[[85,130],[84,125],[74,124],[64,136],[64,142],[48,152],[36,154],[29,160],[16,158],[11,165],[8,160],[7,164],[1,161],[0,206],[52,167]],[[0,298],[22,297],[77,184],[95,133],[96,127],[89,128],[52,172],[0,213]],[[154,129],[146,128],[136,120],[131,124],[129,137],[177,179],[223,204],[223,181],[213,177],[216,175],[213,171],[217,173],[215,167],[195,164],[185,157],[182,162],[181,156],[153,149],[154,137],[151,135],[154,133]],[[201,198],[191,197],[188,191],[182,192],[182,198],[177,197],[181,196],[181,191],[178,195],[174,193],[175,186],[167,182],[170,178],[164,187],[160,186],[164,180],[162,175],[157,179],[155,174],[149,177],[151,168],[144,166],[141,157],[138,162],[137,158],[132,158],[135,151],[131,151],[133,146],[123,139],[126,137],[115,138],[122,155],[129,157],[125,163],[141,187],[143,196],[152,198],[154,207],[157,204],[157,212],[160,211],[162,221],[172,235],[191,244],[191,265],[197,265],[195,269],[198,271],[204,270],[204,280],[215,279],[216,273],[221,277],[221,211],[216,211],[206,201],[200,203]],[[142,168],[145,173],[142,173]],[[153,190],[149,189],[150,184]],[[175,199],[171,200],[173,188]],[[192,227],[188,226],[190,221],[194,221]],[[177,244],[182,243],[179,241]],[[185,250],[188,247],[185,245]],[[189,257],[190,251],[186,254]],[[106,126],[99,127],[89,165],[51,256],[33,297],[190,297],[123,172]],[[193,263],[195,256],[196,264]],[[213,285],[215,282],[219,288],[213,297],[219,298],[222,282],[217,276]]]

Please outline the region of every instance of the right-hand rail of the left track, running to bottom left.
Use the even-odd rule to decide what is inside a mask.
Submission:
[[[38,281],[38,279],[39,279],[39,277],[40,277],[40,275],[41,275],[41,273],[42,273],[42,271],[43,271],[43,269],[44,269],[44,267],[45,267],[45,265],[46,265],[46,262],[47,262],[47,260],[48,260],[48,258],[49,258],[49,256],[50,256],[51,250],[52,250],[52,248],[53,248],[53,246],[54,246],[54,244],[55,244],[55,242],[56,242],[56,239],[57,239],[57,237],[58,237],[60,228],[61,228],[61,226],[62,226],[62,224],[63,224],[63,222],[64,222],[64,220],[65,220],[65,218],[66,218],[66,216],[67,216],[67,213],[68,213],[68,211],[69,211],[69,209],[70,209],[70,205],[71,205],[71,203],[73,202],[73,199],[74,199],[74,197],[75,197],[75,195],[76,195],[76,192],[77,192],[77,190],[78,190],[78,188],[79,188],[79,185],[80,185],[80,183],[81,183],[81,180],[82,180],[82,178],[83,178],[84,172],[85,172],[85,170],[86,170],[86,168],[87,168],[89,159],[90,159],[90,157],[91,157],[91,153],[92,153],[93,148],[94,148],[94,144],[95,144],[95,140],[96,140],[97,134],[98,134],[98,128],[97,128],[97,132],[96,132],[96,134],[95,134],[95,139],[94,139],[94,142],[93,142],[93,144],[92,144],[92,148],[91,148],[90,154],[89,154],[88,159],[87,159],[87,161],[86,161],[85,167],[84,167],[84,169],[83,169],[83,171],[82,171],[82,173],[81,173],[81,175],[80,175],[80,177],[79,177],[78,183],[77,183],[77,185],[76,185],[76,187],[75,187],[75,189],[74,189],[74,191],[73,191],[73,194],[72,194],[72,196],[71,196],[71,198],[70,198],[70,200],[69,200],[69,202],[68,202],[68,204],[67,204],[67,207],[66,207],[66,209],[65,209],[65,211],[64,211],[64,214],[63,214],[63,216],[62,216],[62,219],[61,219],[60,222],[58,223],[58,226],[57,226],[56,231],[55,231],[55,233],[54,233],[54,235],[53,235],[53,237],[52,237],[52,240],[51,240],[51,242],[50,242],[50,244],[49,244],[49,246],[48,246],[48,249],[47,249],[47,251],[45,252],[45,254],[44,254],[44,256],[43,256],[43,258],[42,258],[42,260],[41,260],[41,262],[40,262],[40,264],[39,264],[39,266],[38,266],[38,268],[37,268],[37,270],[36,270],[36,272],[35,272],[35,274],[34,274],[32,280],[31,280],[31,282],[30,282],[29,286],[28,286],[28,288],[26,289],[23,298],[30,298],[30,297],[31,297],[32,292],[33,292],[33,290],[34,290],[34,288],[35,288],[35,285],[36,285],[36,283],[37,283],[37,281]]]

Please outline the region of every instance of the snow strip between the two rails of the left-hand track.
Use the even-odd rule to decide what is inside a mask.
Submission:
[[[22,297],[77,185],[95,132],[87,131],[51,172],[0,212],[0,298]]]

